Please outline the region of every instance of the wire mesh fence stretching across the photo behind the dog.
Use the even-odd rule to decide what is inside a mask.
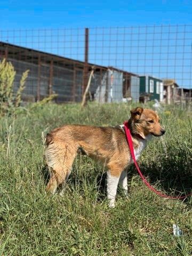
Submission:
[[[192,25],[0,30],[0,57],[30,70],[26,100],[57,93],[99,102],[191,99]]]

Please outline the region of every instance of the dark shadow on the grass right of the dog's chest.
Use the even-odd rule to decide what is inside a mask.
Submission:
[[[191,193],[191,159],[187,159],[186,155],[182,153],[177,156],[170,155],[167,158],[151,161],[149,164],[140,162],[139,165],[150,185],[155,186],[157,190],[164,191],[166,195],[185,196]],[[135,173],[140,177],[137,169],[132,165],[129,176],[132,177]]]

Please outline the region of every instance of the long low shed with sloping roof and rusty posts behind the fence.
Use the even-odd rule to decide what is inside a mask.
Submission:
[[[14,91],[19,87],[23,71],[30,70],[23,91],[26,101],[41,100],[56,93],[57,102],[79,102],[92,68],[91,100],[121,102],[131,97],[133,101],[139,101],[139,78],[124,70],[0,42],[0,59],[3,58],[11,61],[17,71]]]

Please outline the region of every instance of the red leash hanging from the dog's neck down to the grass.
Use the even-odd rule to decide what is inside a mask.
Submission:
[[[130,132],[130,129],[129,129],[129,126],[128,126],[128,122],[125,121],[124,122],[124,127],[125,127],[125,134],[126,134],[126,139],[127,139],[127,142],[129,144],[129,147],[130,147],[130,151],[131,151],[131,156],[133,158],[133,162],[139,172],[139,175],[141,176],[142,180],[146,183],[147,187],[154,191],[157,195],[161,196],[161,197],[165,197],[165,198],[171,198],[171,199],[183,199],[183,198],[186,198],[187,196],[191,196],[191,194],[188,194],[188,195],[185,195],[185,196],[167,196],[165,194],[162,194],[160,191],[157,191],[155,188],[153,188],[149,182],[145,179],[145,177],[143,176],[143,174],[141,173],[140,169],[139,169],[139,166],[137,164],[137,161],[135,159],[135,155],[134,155],[134,149],[133,149],[133,142],[132,142],[132,137],[131,137],[131,132]]]

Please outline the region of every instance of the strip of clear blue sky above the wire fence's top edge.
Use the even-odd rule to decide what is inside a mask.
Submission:
[[[188,24],[191,0],[1,1],[1,29]]]

